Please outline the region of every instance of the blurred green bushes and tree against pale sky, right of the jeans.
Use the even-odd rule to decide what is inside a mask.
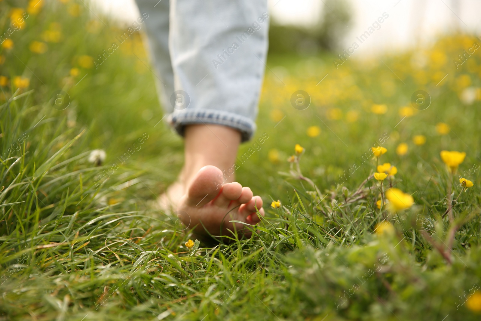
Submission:
[[[320,19],[312,27],[280,25],[273,19],[269,29],[269,53],[310,55],[336,48],[349,29],[349,6],[346,0],[322,2]]]

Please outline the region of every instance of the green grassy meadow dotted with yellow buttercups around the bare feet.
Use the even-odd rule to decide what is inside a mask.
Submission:
[[[236,171],[266,217],[192,247],[154,206],[183,144],[142,24],[102,64],[128,26],[82,1],[3,0],[0,26],[0,320],[479,320],[476,35],[269,55]]]

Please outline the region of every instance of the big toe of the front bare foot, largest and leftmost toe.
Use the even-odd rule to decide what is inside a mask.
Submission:
[[[215,166],[202,167],[187,191],[187,205],[203,206],[212,201],[220,192],[222,186],[222,171]]]

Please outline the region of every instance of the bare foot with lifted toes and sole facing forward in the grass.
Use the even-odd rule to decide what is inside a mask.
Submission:
[[[262,199],[253,196],[249,187],[238,182],[223,184],[222,171],[215,166],[204,166],[190,181],[187,192],[178,200],[176,214],[188,228],[194,228],[197,236],[251,235],[241,221],[256,224],[260,221],[256,208],[264,216]],[[230,230],[230,231],[229,231]],[[232,231],[232,232],[231,232]]]

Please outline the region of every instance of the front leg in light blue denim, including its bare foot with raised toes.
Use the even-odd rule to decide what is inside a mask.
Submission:
[[[234,181],[234,162],[255,129],[266,18],[264,0],[171,0],[174,84],[190,101],[174,107],[170,119],[185,136],[185,192],[175,199],[177,214],[197,235],[249,234],[231,221],[257,223],[256,208],[264,215],[262,199]]]

